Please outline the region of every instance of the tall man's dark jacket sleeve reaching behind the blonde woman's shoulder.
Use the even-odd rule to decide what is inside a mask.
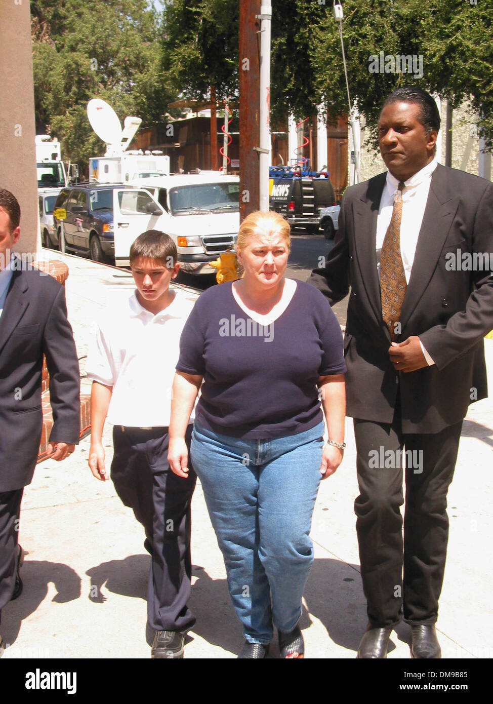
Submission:
[[[350,207],[343,198],[340,206],[335,244],[328,254],[325,266],[314,269],[307,282],[319,289],[331,306],[347,296],[350,290],[349,245],[347,243],[347,213]]]

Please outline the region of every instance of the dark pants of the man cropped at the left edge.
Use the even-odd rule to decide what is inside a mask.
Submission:
[[[18,561],[20,501],[24,488],[0,492],[0,617],[11,601]]]

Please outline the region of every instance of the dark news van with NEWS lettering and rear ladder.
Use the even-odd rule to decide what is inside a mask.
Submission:
[[[320,211],[335,206],[334,189],[327,171],[309,170],[309,160],[269,170],[269,203],[293,227],[305,227],[309,234],[319,232]]]

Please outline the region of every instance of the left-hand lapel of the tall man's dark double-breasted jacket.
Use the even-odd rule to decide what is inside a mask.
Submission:
[[[376,265],[376,226],[386,178],[385,172],[371,179],[366,194],[360,201],[353,203],[354,249],[361,270],[361,279],[378,325],[382,325],[382,304]]]

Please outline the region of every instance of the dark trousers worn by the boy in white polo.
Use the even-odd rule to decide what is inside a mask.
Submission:
[[[192,425],[186,431],[190,458]],[[148,622],[155,631],[185,633],[196,622],[187,606],[191,585],[191,498],[196,473],[188,478],[169,467],[168,428],[113,427],[115,453],[111,479],[124,505],[134,510],[151,553],[147,593]]]

